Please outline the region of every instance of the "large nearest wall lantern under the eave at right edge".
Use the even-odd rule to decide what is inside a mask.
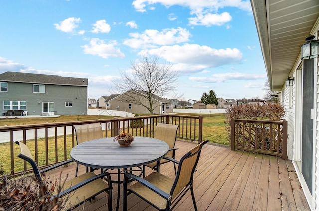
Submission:
[[[314,35],[309,35],[305,38],[306,42],[301,46],[301,58],[303,60],[318,57],[319,40],[314,40],[314,38]]]

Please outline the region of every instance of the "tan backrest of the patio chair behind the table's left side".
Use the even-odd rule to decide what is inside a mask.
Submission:
[[[84,125],[73,125],[77,144],[85,141],[103,138],[102,126],[100,123]]]

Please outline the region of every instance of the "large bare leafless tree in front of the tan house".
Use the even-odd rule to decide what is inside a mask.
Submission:
[[[120,72],[121,81],[114,81],[117,93],[123,102],[141,105],[150,114],[169,92],[177,89],[178,72],[172,70],[172,64],[160,63],[160,56],[142,55],[137,62],[131,61],[131,71]]]

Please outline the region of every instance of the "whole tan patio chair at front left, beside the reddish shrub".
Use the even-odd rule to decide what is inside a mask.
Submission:
[[[20,141],[16,141],[15,143],[20,145],[21,149],[21,153],[18,155],[18,157],[31,164],[36,181],[39,183],[40,187],[43,187],[46,191],[47,187],[45,185],[45,180],[42,173],[49,172],[52,169],[73,162],[73,160],[66,160],[43,170],[39,170],[38,165],[34,161],[27,145]],[[106,179],[107,182],[104,182],[103,178]],[[63,200],[66,201],[63,210],[72,210],[72,208],[81,205],[87,200],[94,199],[98,194],[105,191],[109,195],[108,209],[109,211],[112,211],[112,183],[111,176],[108,172],[104,172],[99,175],[96,175],[94,172],[88,172],[65,182],[61,181],[60,184],[62,186],[61,192],[58,192],[59,188],[55,188],[53,193],[54,197],[51,197],[50,200],[53,200],[57,197],[63,198]]]

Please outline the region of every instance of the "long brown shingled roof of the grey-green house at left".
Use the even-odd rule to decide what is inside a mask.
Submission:
[[[62,77],[57,75],[32,74],[22,72],[4,72],[0,74],[0,81],[68,86],[88,86],[87,78]]]

